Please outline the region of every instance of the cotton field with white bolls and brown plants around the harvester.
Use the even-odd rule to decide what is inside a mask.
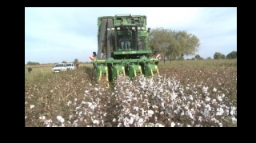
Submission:
[[[25,67],[25,126],[237,126],[237,60],[160,62],[160,76],[110,88],[92,64]]]

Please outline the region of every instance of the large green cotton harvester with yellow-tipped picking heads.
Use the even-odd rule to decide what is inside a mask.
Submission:
[[[98,18],[98,53],[93,52],[95,79],[114,81],[118,74],[132,80],[138,74],[146,77],[158,73],[159,59],[149,47],[150,28],[145,15],[118,14]],[[130,39],[122,43],[122,36]],[[90,57],[90,58],[91,58]],[[103,78],[106,79],[103,79]]]

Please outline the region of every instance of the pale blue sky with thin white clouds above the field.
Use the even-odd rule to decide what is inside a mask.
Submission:
[[[26,7],[25,64],[90,62],[98,51],[98,17],[116,14],[146,15],[151,30],[194,34],[205,59],[237,51],[237,7]]]

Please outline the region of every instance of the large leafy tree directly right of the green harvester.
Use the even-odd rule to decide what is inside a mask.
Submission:
[[[162,58],[182,59],[180,56],[194,55],[200,46],[199,39],[186,31],[156,28],[149,36],[150,48],[162,54]]]

